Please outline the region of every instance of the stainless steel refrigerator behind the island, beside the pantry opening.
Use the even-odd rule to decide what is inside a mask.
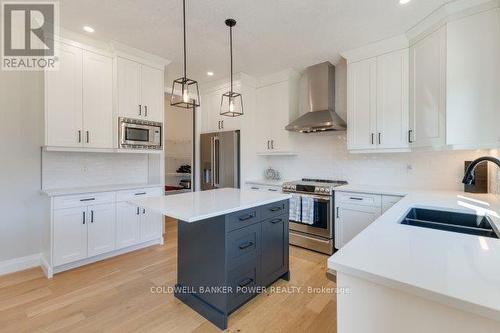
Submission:
[[[201,190],[240,188],[240,131],[202,134]]]

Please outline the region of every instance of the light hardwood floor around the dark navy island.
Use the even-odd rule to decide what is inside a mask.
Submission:
[[[166,242],[47,280],[38,268],[0,277],[0,332],[219,332],[172,294],[152,293],[176,281],[177,225]],[[336,296],[307,287],[335,288],[327,256],[290,248],[290,282],[233,313],[228,332],[335,332]],[[301,287],[300,293],[282,293]]]

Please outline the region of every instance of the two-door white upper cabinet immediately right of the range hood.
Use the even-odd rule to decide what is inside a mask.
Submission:
[[[348,148],[408,149],[408,49],[348,64]]]

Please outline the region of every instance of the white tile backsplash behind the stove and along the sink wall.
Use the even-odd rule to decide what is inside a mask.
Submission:
[[[352,184],[460,190],[464,161],[492,155],[489,150],[350,154],[346,132],[291,135],[297,156],[266,158],[267,166],[278,169],[284,179],[312,177]]]

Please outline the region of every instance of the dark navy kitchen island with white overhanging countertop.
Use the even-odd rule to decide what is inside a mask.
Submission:
[[[132,203],[179,221],[175,296],[226,329],[232,312],[289,279],[289,198],[216,189]]]

